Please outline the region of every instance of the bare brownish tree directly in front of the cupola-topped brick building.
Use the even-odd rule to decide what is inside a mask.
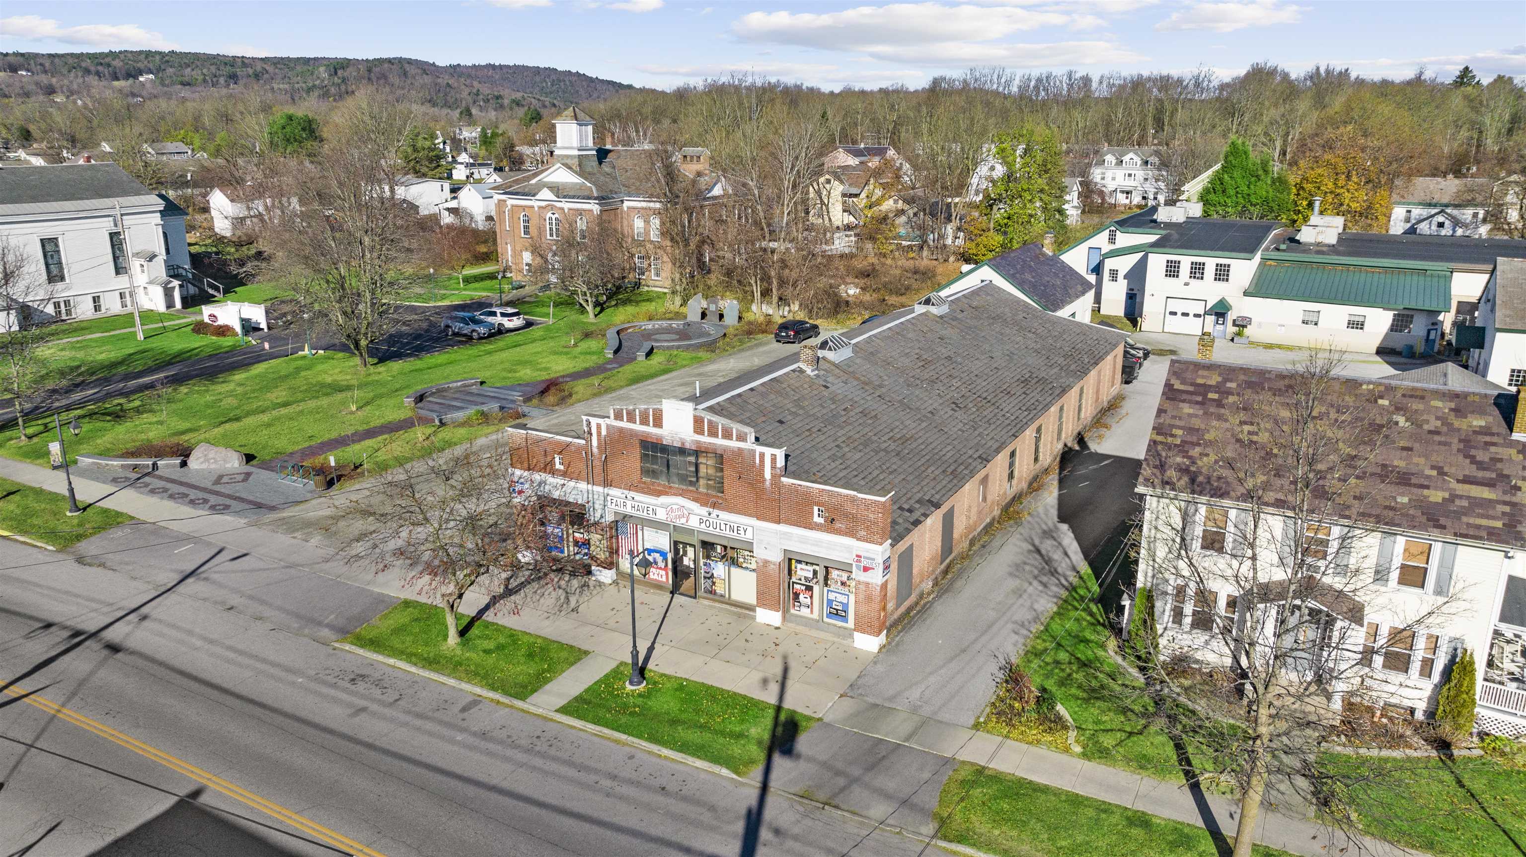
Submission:
[[[617,213],[584,218],[548,212],[546,217],[555,220],[531,244],[531,279],[572,296],[591,322],[641,288],[645,271],[636,267],[638,247]]]

